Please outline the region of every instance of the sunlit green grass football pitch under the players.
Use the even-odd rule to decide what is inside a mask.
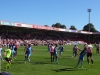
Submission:
[[[83,49],[83,45],[78,46]],[[6,70],[12,75],[99,75],[100,74],[100,55],[96,55],[95,48],[93,49],[94,65],[88,65],[86,56],[84,58],[84,68],[74,68],[78,61],[78,56],[73,59],[73,45],[64,46],[65,51],[62,56],[59,56],[58,62],[50,61],[50,54],[47,51],[47,46],[33,46],[30,63],[24,63],[24,47],[18,49],[17,59],[12,62],[10,69]],[[1,63],[1,71],[5,71],[6,61]]]

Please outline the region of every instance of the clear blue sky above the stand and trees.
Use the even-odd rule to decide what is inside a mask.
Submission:
[[[0,20],[41,26],[59,22],[81,30],[88,23],[88,8],[100,31],[100,0],[0,0]]]

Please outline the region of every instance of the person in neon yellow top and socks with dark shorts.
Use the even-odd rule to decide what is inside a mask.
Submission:
[[[5,69],[8,69],[11,65],[11,51],[12,51],[12,47],[10,46],[8,49],[4,50],[4,56],[5,56],[5,60],[7,61],[7,64],[5,66]]]

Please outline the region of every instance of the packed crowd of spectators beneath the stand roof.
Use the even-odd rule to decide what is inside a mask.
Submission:
[[[32,45],[47,45],[48,43],[68,44],[72,41],[84,41],[74,37],[68,38],[62,33],[17,33],[17,32],[3,32],[1,34],[1,43],[6,45],[7,42],[17,41],[20,45],[30,43]]]

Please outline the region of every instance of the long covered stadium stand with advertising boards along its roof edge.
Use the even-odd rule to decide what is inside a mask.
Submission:
[[[54,43],[73,43],[81,41],[82,43],[88,42],[91,36],[91,42],[98,42],[99,36],[94,37],[92,32],[68,30],[61,28],[12,23],[6,21],[0,21],[0,36],[3,45],[7,42],[18,41],[20,45],[30,42],[32,45],[47,45],[48,42]],[[96,41],[95,41],[95,39]],[[70,40],[70,41],[69,41]]]

